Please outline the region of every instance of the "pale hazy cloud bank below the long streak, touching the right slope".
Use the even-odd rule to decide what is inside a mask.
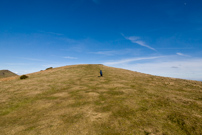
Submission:
[[[201,81],[201,61],[202,59],[196,58],[184,60],[172,59],[169,61],[164,61],[164,59],[162,59],[160,61],[150,61],[145,63],[129,63],[119,65],[119,67],[152,75]]]

